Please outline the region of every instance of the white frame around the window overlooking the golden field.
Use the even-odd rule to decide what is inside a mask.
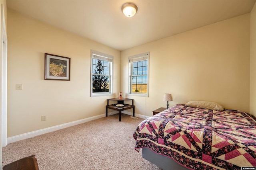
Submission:
[[[137,76],[147,76],[147,93],[139,93],[139,92],[132,92],[132,70],[133,70],[133,66],[132,66],[132,63],[134,62],[138,62],[138,61],[147,61],[148,64],[147,64],[147,74],[143,74],[143,75],[137,75]],[[139,54],[139,55],[134,55],[134,56],[131,56],[131,57],[128,57],[128,64],[129,64],[129,84],[128,84],[128,87],[129,87],[129,92],[128,92],[128,95],[131,95],[131,96],[143,96],[143,97],[149,97],[149,52],[147,53],[142,53],[142,54]]]

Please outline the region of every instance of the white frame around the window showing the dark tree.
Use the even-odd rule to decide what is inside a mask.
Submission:
[[[109,76],[109,90],[108,92],[93,92],[92,90],[92,77],[94,75],[93,73],[93,59],[100,59],[103,61],[108,61],[109,64],[109,74],[103,74],[104,76]],[[91,50],[91,80],[90,80],[90,97],[95,97],[95,96],[111,96],[112,95],[112,89],[113,89],[113,84],[112,84],[112,77],[113,77],[113,61],[114,57],[111,55],[107,55],[104,53],[100,53],[98,51]]]

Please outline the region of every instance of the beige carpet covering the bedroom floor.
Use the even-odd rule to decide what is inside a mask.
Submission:
[[[143,119],[118,114],[8,144],[3,166],[35,154],[39,170],[160,170],[134,149]]]

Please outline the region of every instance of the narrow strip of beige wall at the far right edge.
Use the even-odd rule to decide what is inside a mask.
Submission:
[[[250,33],[250,113],[256,116],[256,4],[251,11]]]

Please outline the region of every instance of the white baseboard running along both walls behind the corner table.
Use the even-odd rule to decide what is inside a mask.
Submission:
[[[114,115],[114,114],[117,114],[117,113],[119,113],[119,112],[118,111],[112,111],[112,112],[109,112],[108,115]],[[127,114],[127,115],[132,115],[132,113],[128,112],[128,111],[122,111],[122,113]],[[85,119],[80,119],[80,120],[77,120],[77,121],[64,123],[64,124],[61,124],[61,125],[48,127],[48,128],[45,128],[45,129],[40,129],[40,130],[37,130],[37,131],[23,133],[21,135],[16,135],[16,136],[13,136],[13,137],[8,137],[7,138],[7,144],[13,143],[13,142],[16,142],[16,141],[20,141],[20,140],[23,140],[23,139],[28,139],[30,137],[35,137],[35,136],[38,136],[38,135],[42,135],[44,133],[57,131],[57,130],[60,130],[60,129],[64,129],[66,127],[78,125],[78,124],[85,123],[85,122],[88,122],[88,121],[92,121],[92,120],[95,120],[95,119],[100,119],[100,118],[105,117],[105,116],[106,116],[106,114],[101,114],[101,115],[97,115],[97,116],[88,117],[88,118],[85,118]],[[146,119],[149,116],[135,114],[135,117],[140,117],[142,119]]]

